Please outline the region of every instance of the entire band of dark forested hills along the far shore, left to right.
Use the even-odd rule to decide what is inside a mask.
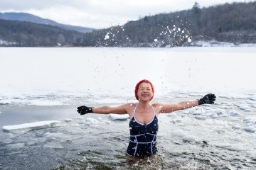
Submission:
[[[144,16],[124,26],[81,34],[58,27],[0,20],[0,40],[13,46],[176,47],[198,40],[256,43],[256,1]],[[1,45],[1,44],[0,44]]]

